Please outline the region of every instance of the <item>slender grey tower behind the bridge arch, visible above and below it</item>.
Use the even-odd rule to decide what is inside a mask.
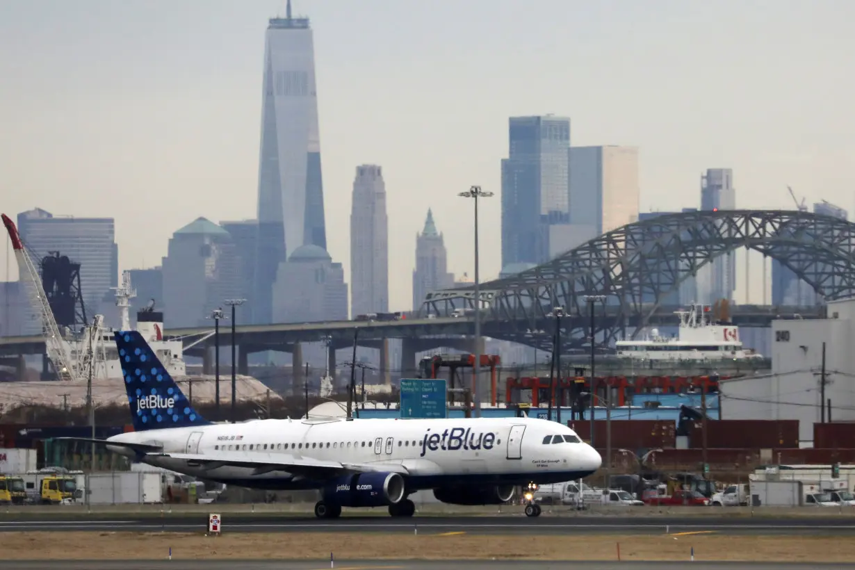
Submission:
[[[700,177],[700,209],[736,209],[734,171],[731,168],[708,168]],[[733,251],[716,257],[698,272],[699,303],[732,301],[736,289],[736,256]]]

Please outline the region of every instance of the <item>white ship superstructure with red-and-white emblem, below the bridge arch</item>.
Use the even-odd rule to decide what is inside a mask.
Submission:
[[[617,356],[632,360],[720,361],[761,359],[754,350],[746,349],[735,325],[714,323],[710,306],[693,303],[688,310],[675,311],[680,326],[675,336],[660,335],[652,329],[642,340],[619,340]]]

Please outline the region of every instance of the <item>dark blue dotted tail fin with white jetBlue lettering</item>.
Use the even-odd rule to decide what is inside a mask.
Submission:
[[[135,431],[210,423],[192,408],[139,332],[114,335]]]

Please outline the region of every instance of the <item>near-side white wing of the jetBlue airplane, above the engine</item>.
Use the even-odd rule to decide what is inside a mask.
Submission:
[[[208,471],[219,467],[254,467],[253,474],[286,471],[295,475],[312,477],[334,477],[344,473],[388,472],[409,475],[410,472],[400,463],[377,461],[373,463],[347,463],[312,459],[301,455],[270,453],[217,453],[216,455],[198,455],[191,453],[149,453],[158,457],[198,462]]]

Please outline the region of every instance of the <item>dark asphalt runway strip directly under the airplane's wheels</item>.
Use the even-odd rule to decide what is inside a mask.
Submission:
[[[414,517],[345,516],[336,520],[315,517],[222,514],[222,532],[455,532],[469,534],[662,534],[715,531],[726,534],[833,534],[855,535],[855,518],[849,516],[801,518],[728,517],[611,517],[611,516],[481,516]],[[0,532],[113,531],[203,532],[207,514],[148,517],[116,517],[110,520],[51,520],[0,517]]]

